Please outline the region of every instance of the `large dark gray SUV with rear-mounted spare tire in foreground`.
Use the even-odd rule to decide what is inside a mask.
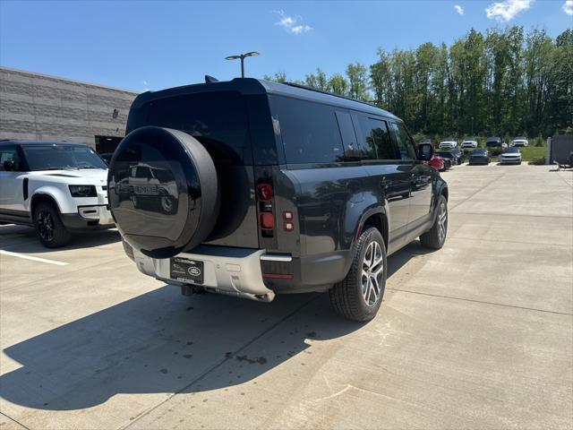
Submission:
[[[448,186],[423,162],[432,146],[416,151],[372,105],[235,79],[141,94],[127,132],[108,176],[126,254],[184,294],[328,291],[338,314],[366,321],[387,256],[446,239]],[[141,165],[170,173],[138,182]]]

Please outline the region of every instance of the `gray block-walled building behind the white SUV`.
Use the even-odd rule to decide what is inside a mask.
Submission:
[[[0,139],[84,142],[111,152],[136,92],[0,67]]]

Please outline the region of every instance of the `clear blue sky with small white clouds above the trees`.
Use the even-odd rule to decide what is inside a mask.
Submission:
[[[573,0],[191,2],[0,0],[0,65],[144,91],[245,74],[304,79],[376,61],[378,48],[451,44],[470,28],[573,27]]]

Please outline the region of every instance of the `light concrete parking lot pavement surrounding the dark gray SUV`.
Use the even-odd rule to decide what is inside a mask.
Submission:
[[[366,324],[324,295],[183,297],[115,231],[47,250],[0,227],[0,428],[570,428],[573,172],[552,169],[443,174],[446,245],[389,257]]]

